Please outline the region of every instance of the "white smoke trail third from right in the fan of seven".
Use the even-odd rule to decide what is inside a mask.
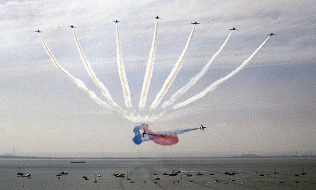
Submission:
[[[179,73],[181,67],[182,67],[182,63],[183,63],[183,60],[184,60],[184,57],[187,53],[187,50],[189,48],[189,45],[190,45],[190,42],[191,42],[191,39],[193,37],[193,33],[194,33],[194,29],[195,29],[196,25],[193,26],[193,29],[191,31],[191,34],[190,34],[190,37],[187,41],[187,44],[185,46],[185,48],[183,49],[182,51],[182,54],[180,55],[178,61],[176,62],[176,64],[174,65],[172,71],[170,72],[169,76],[167,77],[167,79],[164,81],[163,85],[162,85],[162,88],[161,90],[158,92],[154,102],[152,103],[151,107],[150,107],[150,110],[155,110],[161,99],[164,97],[164,95],[167,93],[170,85],[172,84],[174,78],[177,76],[177,74]]]

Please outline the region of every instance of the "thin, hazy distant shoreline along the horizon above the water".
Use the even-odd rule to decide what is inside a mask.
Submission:
[[[0,159],[69,159],[69,160],[84,160],[84,159],[207,159],[207,158],[316,158],[316,156],[224,156],[224,157],[46,157],[46,156],[13,156],[0,155]]]

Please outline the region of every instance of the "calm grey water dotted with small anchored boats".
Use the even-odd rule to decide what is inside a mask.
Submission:
[[[0,190],[316,190],[316,158],[82,160],[85,164],[70,161],[0,159]],[[187,173],[189,163],[192,177],[183,175]],[[31,174],[32,179],[17,177],[19,167],[23,172],[23,166],[25,173]],[[274,174],[274,167],[278,174]],[[307,174],[302,176],[303,167]],[[173,170],[181,172],[178,176],[162,175],[164,172],[172,173]],[[68,175],[57,179],[56,174],[61,171],[68,172]],[[126,174],[127,171],[129,178],[135,183],[113,176],[114,173]],[[197,176],[198,171],[204,175]],[[225,172],[238,174],[229,176]],[[153,175],[154,173],[158,175]],[[210,173],[214,175],[209,175]],[[97,183],[93,183],[94,174],[102,175],[97,177]],[[90,180],[84,180],[83,175]],[[157,184],[154,184],[155,178],[160,178]],[[223,182],[215,183],[215,179]],[[190,180],[193,182],[189,182]],[[284,184],[280,184],[280,181]]]

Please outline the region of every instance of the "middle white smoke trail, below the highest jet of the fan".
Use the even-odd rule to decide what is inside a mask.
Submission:
[[[157,28],[158,28],[158,19],[156,20],[152,48],[150,50],[150,54],[148,58],[148,64],[147,64],[146,73],[144,76],[142,93],[140,95],[140,100],[139,100],[139,105],[138,105],[138,108],[140,111],[144,110],[146,106],[148,89],[149,89],[149,85],[153,76],[155,53],[156,53]]]

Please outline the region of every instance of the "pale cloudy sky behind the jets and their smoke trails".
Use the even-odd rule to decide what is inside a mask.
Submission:
[[[316,153],[316,3],[313,0],[53,1],[0,0],[0,154],[45,156],[221,156]],[[232,38],[209,71],[178,102],[237,68],[267,38],[255,59],[213,92],[150,124],[154,131],[206,126],[179,143],[135,145],[135,123],[94,103],[58,71],[59,63],[100,98],[84,69],[72,31],[114,100],[126,109],[118,76],[115,23],[138,110],[155,20],[157,51],[146,112],[200,22],[183,67],[162,102],[186,84]],[[106,101],[106,100],[104,100]],[[155,113],[159,113],[159,109]]]

